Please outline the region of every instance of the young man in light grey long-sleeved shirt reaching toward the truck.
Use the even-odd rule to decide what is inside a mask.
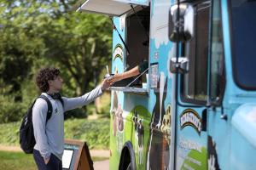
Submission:
[[[58,69],[45,68],[39,71],[36,82],[42,94],[52,105],[52,115],[46,123],[47,102],[41,98],[37,99],[32,108],[32,123],[36,139],[33,156],[39,170],[62,170],[64,112],[87,105],[99,97],[111,82],[104,79],[100,86],[77,98],[65,98],[59,94],[63,80]]]

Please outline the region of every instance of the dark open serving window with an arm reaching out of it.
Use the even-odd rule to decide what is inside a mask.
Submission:
[[[149,51],[149,26],[150,7],[137,11],[132,10],[131,15],[126,17],[126,44],[130,54],[126,55],[127,71],[136,65],[142,65],[148,60]],[[148,65],[146,65],[148,67]],[[136,77],[133,77],[133,79]],[[146,73],[131,84],[133,87],[142,88],[142,83],[146,82]]]

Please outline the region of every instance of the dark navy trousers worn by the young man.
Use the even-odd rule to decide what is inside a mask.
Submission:
[[[62,161],[54,154],[50,155],[49,162],[44,163],[44,157],[38,150],[33,150],[33,156],[37,163],[38,170],[62,170]]]

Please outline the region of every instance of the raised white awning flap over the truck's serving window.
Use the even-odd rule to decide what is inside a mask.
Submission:
[[[131,5],[148,6],[149,0],[86,0],[76,4],[77,11],[120,16],[131,10]]]

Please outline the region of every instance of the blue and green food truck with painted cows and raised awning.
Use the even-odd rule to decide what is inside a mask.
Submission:
[[[113,21],[109,169],[256,169],[255,0],[87,0]]]

